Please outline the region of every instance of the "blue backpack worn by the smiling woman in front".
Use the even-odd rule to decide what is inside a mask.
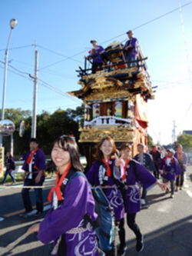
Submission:
[[[82,176],[86,180],[86,176],[81,171],[76,171],[74,175],[71,176],[68,181],[68,185],[74,180],[75,177]],[[88,180],[87,180],[88,181]],[[89,184],[89,182],[88,182]],[[90,184],[89,184],[90,185]],[[91,185],[90,185],[91,187]],[[84,215],[84,226],[86,228],[87,221],[94,228],[94,232],[98,237],[98,246],[102,251],[111,251],[112,242],[114,241],[114,211],[106,198],[104,192],[101,188],[91,187],[91,192],[93,194],[95,208],[94,210],[98,214],[98,218],[92,221],[88,214]]]

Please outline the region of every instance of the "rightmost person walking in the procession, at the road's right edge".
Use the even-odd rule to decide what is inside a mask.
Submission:
[[[174,154],[174,157],[177,158],[180,165],[180,175],[178,175],[176,180],[176,192],[179,187],[180,190],[182,190],[184,185],[184,172],[187,171],[187,155],[182,151],[182,149],[182,145],[177,145],[177,152]]]

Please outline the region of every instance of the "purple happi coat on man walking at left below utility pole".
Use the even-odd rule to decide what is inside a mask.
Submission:
[[[31,154],[31,151],[28,151],[27,154],[22,156],[22,160],[25,160],[22,169],[24,171],[29,171],[28,170],[28,163],[26,162],[28,160],[29,155]],[[34,159],[34,160],[33,160]],[[46,167],[46,163],[45,163],[45,154],[44,151],[42,151],[40,148],[38,148],[38,151],[35,152],[34,156],[33,156],[32,161],[33,165],[32,165],[32,173],[33,173],[33,178],[35,178],[38,175],[37,169],[34,168],[35,166],[38,168],[39,171],[44,170]],[[27,175],[28,178],[28,175]],[[45,180],[45,175],[41,175],[41,181]]]

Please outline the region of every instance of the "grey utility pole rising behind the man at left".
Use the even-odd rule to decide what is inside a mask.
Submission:
[[[33,115],[32,115],[32,126],[31,126],[31,138],[36,138],[37,98],[38,98],[38,51],[37,51],[37,42],[35,41],[35,78],[34,78],[34,91],[33,91]]]

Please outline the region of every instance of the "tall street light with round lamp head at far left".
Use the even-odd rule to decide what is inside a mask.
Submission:
[[[15,18],[12,18],[10,21],[11,31],[8,37],[8,45],[12,36],[12,30],[18,24]],[[5,71],[4,71],[4,83],[3,83],[3,94],[2,94],[2,120],[4,120],[5,115],[5,92],[6,92],[6,82],[7,82],[7,69],[8,69],[8,45],[5,50]],[[0,147],[2,147],[2,135],[0,135]]]

